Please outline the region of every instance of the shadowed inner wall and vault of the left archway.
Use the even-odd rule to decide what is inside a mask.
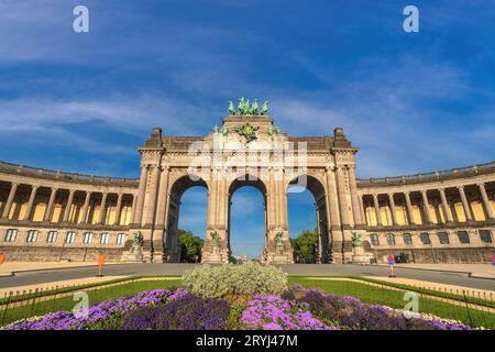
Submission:
[[[179,262],[180,245],[177,238],[178,220],[180,213],[180,199],[191,187],[205,187],[209,189],[208,183],[196,174],[177,175],[168,189],[168,201],[166,210],[166,222],[164,231],[164,261]]]

